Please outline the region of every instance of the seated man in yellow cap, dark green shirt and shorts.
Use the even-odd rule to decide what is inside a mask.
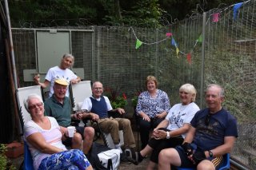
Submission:
[[[49,117],[54,117],[58,121],[58,125],[62,129],[62,141],[66,146],[72,148],[81,149],[85,154],[90,150],[90,146],[94,139],[94,128],[91,127],[76,127],[76,133],[73,138],[65,135],[66,128],[70,126],[71,119],[81,120],[82,115],[75,113],[72,114],[72,107],[70,105],[70,100],[66,97],[66,90],[69,82],[64,78],[56,79],[54,81],[54,94],[48,100],[45,101],[45,115]],[[83,139],[83,144],[82,144]]]

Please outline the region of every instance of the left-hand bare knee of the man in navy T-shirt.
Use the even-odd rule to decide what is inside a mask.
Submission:
[[[182,164],[178,152],[174,148],[162,149],[158,156],[158,169],[170,170],[170,165],[180,166]]]

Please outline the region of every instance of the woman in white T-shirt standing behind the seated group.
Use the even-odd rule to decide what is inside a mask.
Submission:
[[[59,66],[54,66],[48,70],[46,73],[46,80],[42,83],[40,82],[40,75],[34,76],[34,82],[37,85],[41,85],[42,88],[46,88],[50,85],[50,93],[49,97],[51,97],[54,93],[54,81],[55,79],[64,78],[66,81],[71,82],[72,84],[76,84],[81,81],[81,78],[78,77],[71,71],[69,68],[74,65],[74,56],[70,53],[65,53],[62,56],[62,61]],[[66,92],[66,97],[69,97],[69,91]]]

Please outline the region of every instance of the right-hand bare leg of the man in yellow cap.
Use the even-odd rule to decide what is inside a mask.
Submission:
[[[90,151],[90,147],[94,141],[94,128],[86,127],[83,133],[84,140],[82,143],[82,152],[87,154]]]

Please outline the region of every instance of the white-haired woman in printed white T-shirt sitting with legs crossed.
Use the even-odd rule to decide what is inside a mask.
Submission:
[[[194,85],[182,85],[179,89],[179,97],[181,103],[170,109],[166,119],[154,128],[149,143],[138,153],[138,162],[141,162],[152,152],[146,169],[154,169],[155,164],[158,164],[158,154],[163,148],[174,148],[182,144],[190,128],[190,121],[199,110],[198,105],[194,103],[196,97]]]

